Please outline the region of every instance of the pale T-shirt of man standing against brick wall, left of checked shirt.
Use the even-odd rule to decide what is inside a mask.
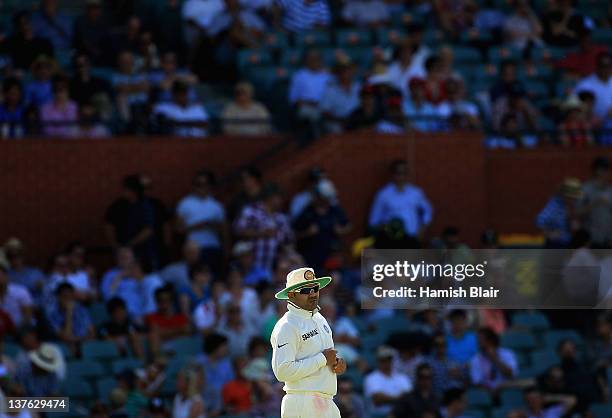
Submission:
[[[225,220],[223,206],[212,196],[202,198],[188,195],[179,202],[176,213],[183,219],[187,227],[204,221],[223,222]],[[187,239],[197,242],[200,248],[219,248],[221,245],[217,233],[211,228],[191,231]]]

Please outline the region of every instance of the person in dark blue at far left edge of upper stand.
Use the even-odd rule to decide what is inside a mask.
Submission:
[[[0,104],[0,138],[18,139],[25,135],[25,106],[21,83],[6,78],[2,83],[3,100]]]

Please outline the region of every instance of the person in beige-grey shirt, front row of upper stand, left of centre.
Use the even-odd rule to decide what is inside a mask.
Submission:
[[[271,132],[270,112],[253,100],[253,85],[242,82],[234,87],[234,101],[223,109],[223,132],[228,135],[265,135]]]

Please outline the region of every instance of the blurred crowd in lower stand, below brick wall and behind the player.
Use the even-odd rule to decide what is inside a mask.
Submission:
[[[435,208],[407,181],[408,169],[402,160],[390,165],[371,203],[367,245],[469,251],[452,226],[425,240]],[[610,204],[609,162],[600,158],[593,170],[584,185],[564,182],[557,206],[538,215],[548,247],[588,252],[588,231],[612,237],[599,210]],[[610,416],[609,311],[362,310],[342,196],[323,170],[307,177],[285,201],[250,167],[224,204],[214,173],[202,170],[170,210],[151,195],[148,176],[126,176],[116,200],[99,202],[108,205],[103,222],[115,254],[104,271],[88,262],[84,243],[67,244],[41,269],[27,243],[8,239],[2,396],[68,396],[70,416],[277,417],[283,392],[269,339],[286,302],[274,293],[290,270],[308,265],[333,277],[319,305],[349,364],[336,397],[343,417]],[[584,211],[579,229],[561,219],[574,207]],[[565,232],[573,242],[553,240]],[[481,246],[497,248],[497,234],[485,231]]]

